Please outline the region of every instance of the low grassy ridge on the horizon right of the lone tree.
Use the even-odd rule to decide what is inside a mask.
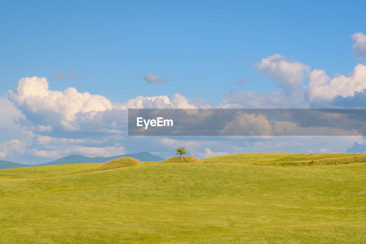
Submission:
[[[366,162],[366,154],[332,153],[242,153],[203,158],[205,163],[251,164],[268,166],[336,165]]]

